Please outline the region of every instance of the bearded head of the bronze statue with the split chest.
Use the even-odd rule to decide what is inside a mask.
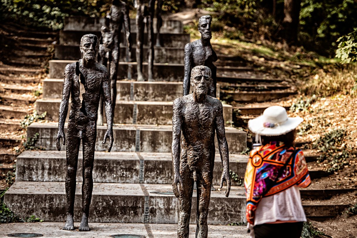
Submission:
[[[95,61],[99,51],[98,37],[93,34],[82,36],[79,49],[81,50],[85,61]]]

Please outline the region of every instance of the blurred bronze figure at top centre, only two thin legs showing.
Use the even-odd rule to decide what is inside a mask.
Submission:
[[[154,81],[152,69],[154,68],[154,28],[152,22],[155,13],[155,0],[136,0],[136,62],[137,62],[137,81],[144,81],[142,73],[143,43],[145,22],[147,26],[147,74],[148,81]]]

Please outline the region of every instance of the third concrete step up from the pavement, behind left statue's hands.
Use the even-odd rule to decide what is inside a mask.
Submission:
[[[58,123],[32,123],[27,127],[27,137],[33,137],[36,132],[39,138],[35,146],[46,150],[56,150],[55,139]],[[67,123],[65,124],[65,132]],[[96,151],[107,151],[108,144],[103,144],[106,126],[97,126]],[[113,126],[114,143],[112,151],[136,152],[171,152],[172,126],[154,125],[118,125]],[[233,127],[226,127],[226,138],[230,153],[239,153],[246,148],[247,135]],[[216,150],[218,151],[216,141]],[[62,146],[65,150],[65,146]]]

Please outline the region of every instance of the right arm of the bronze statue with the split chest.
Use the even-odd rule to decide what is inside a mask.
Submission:
[[[109,138],[109,147],[108,152],[110,152],[113,145],[113,117],[112,117],[112,106],[111,106],[111,94],[110,94],[110,83],[109,83],[109,74],[105,68],[105,79],[102,83],[102,92],[105,105],[105,117],[107,121],[107,131],[104,135],[103,144],[106,139]]]

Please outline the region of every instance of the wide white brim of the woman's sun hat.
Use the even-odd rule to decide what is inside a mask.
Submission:
[[[259,116],[248,121],[248,128],[251,132],[262,136],[280,136],[294,130],[303,120],[301,117],[288,117],[282,125],[268,128],[263,126],[263,116]]]

